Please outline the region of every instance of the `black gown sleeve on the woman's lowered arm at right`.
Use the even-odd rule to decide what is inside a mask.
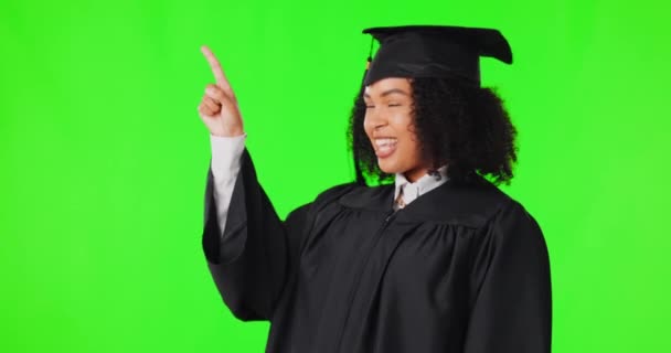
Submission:
[[[551,351],[550,259],[535,220],[511,202],[493,220],[476,257],[465,353]]]

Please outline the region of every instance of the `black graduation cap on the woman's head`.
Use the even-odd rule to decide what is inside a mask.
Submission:
[[[480,56],[512,64],[510,45],[491,29],[404,25],[363,30],[380,43],[363,84],[386,77],[461,77],[480,86]],[[371,40],[372,54],[373,40]]]

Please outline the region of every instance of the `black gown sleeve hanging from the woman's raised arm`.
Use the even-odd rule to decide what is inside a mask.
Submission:
[[[231,312],[243,321],[271,320],[274,307],[296,258],[308,205],[279,220],[259,185],[245,149],[222,232],[207,173],[203,250],[216,288]]]

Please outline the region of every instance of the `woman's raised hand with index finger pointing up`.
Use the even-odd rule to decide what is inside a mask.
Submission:
[[[201,51],[212,67],[216,84],[209,84],[205,87],[205,95],[198,106],[199,115],[212,135],[223,137],[243,135],[243,119],[237,99],[221,64],[207,46],[201,46]]]

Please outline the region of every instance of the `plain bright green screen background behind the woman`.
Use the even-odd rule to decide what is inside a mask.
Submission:
[[[210,45],[285,216],[351,180],[366,26],[500,29],[505,192],[551,253],[554,352],[671,352],[669,11],[639,1],[0,2],[0,351],[262,352],[201,252]]]

